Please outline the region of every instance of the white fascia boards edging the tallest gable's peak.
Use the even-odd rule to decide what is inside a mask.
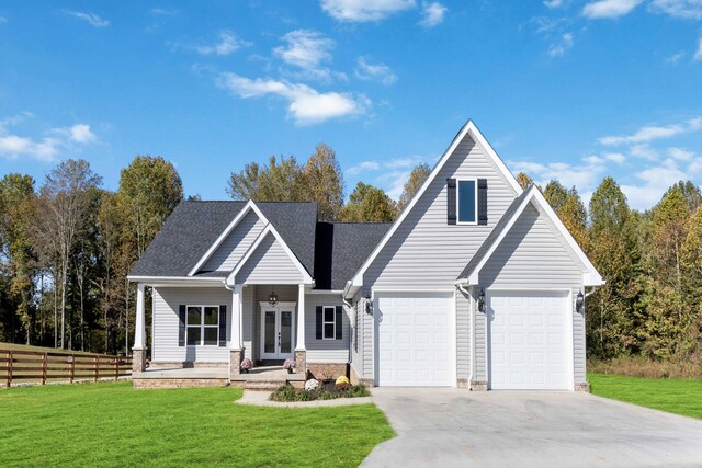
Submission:
[[[465,138],[466,135],[469,135],[471,138],[476,144],[480,145],[485,149],[485,151],[488,155],[488,157],[495,163],[495,167],[505,176],[505,179],[510,184],[510,186],[514,190],[517,195],[518,196],[521,195],[523,190],[522,190],[521,185],[519,185],[519,182],[517,182],[517,179],[514,178],[514,175],[512,175],[512,173],[509,171],[509,169],[507,169],[507,165],[505,165],[505,162],[502,162],[500,157],[497,155],[497,152],[495,151],[495,148],[492,148],[490,146],[490,144],[487,141],[487,139],[485,139],[485,137],[483,136],[480,130],[478,130],[478,127],[475,125],[475,123],[473,121],[468,119],[468,122],[463,126],[463,128],[461,128],[461,132],[458,132],[458,134],[455,136],[453,141],[451,141],[451,145],[444,151],[444,153],[441,156],[441,158],[439,159],[439,162],[437,162],[434,168],[431,170],[431,172],[429,173],[429,176],[427,178],[424,183],[421,185],[421,187],[419,187],[419,190],[417,191],[417,193],[415,194],[412,199],[409,202],[407,207],[403,210],[403,213],[400,213],[400,215],[395,220],[395,222],[393,222],[393,226],[390,226],[390,228],[387,230],[387,232],[385,233],[385,236],[383,237],[381,242],[375,247],[375,249],[373,250],[371,255],[369,255],[369,258],[365,260],[363,265],[355,273],[355,275],[353,276],[353,279],[351,281],[353,286],[362,286],[363,285],[363,274],[365,273],[365,271],[369,269],[371,263],[373,263],[375,258],[378,255],[378,253],[383,250],[385,244],[393,237],[393,235],[395,233],[395,231],[397,230],[399,225],[408,216],[409,212],[412,210],[412,208],[417,204],[417,201],[419,198],[421,198],[421,196],[427,191],[429,185],[431,185],[432,182],[434,181],[434,179],[437,179],[437,174],[445,165],[445,163],[449,160],[449,158],[451,158],[451,156],[456,150],[456,148],[458,147],[461,141],[463,141],[463,139]]]

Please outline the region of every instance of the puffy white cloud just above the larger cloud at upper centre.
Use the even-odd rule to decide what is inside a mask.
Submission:
[[[286,46],[275,47],[273,54],[287,65],[305,71],[305,78],[328,79],[331,75],[322,62],[331,60],[336,43],[317,31],[297,30],[285,34]]]

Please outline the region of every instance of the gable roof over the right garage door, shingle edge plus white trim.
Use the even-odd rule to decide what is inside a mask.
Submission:
[[[585,286],[601,286],[604,284],[602,277],[595,269],[590,260],[587,258],[580,246],[573,238],[568,229],[561,221],[556,213],[553,210],[546,198],[534,185],[530,186],[520,196],[514,198],[510,206],[505,212],[505,215],[495,226],[495,229],[485,239],[485,242],[475,252],[475,255],[467,263],[463,272],[456,278],[456,283],[463,283],[468,285],[478,284],[478,275],[480,270],[487,264],[488,260],[495,253],[500,242],[507,237],[512,226],[514,226],[517,219],[524,212],[524,208],[529,204],[533,204],[536,209],[544,213],[551,220],[551,225],[557,230],[557,235],[562,236],[566,242],[566,246],[570,250],[570,253],[576,258],[584,266],[585,273],[582,274],[582,282]]]

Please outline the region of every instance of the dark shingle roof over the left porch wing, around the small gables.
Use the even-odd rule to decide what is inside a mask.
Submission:
[[[317,204],[259,202],[256,205],[314,277]],[[245,206],[246,202],[181,202],[129,274],[186,276]],[[210,274],[197,274],[204,275]]]

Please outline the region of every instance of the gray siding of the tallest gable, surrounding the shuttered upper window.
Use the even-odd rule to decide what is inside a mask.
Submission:
[[[446,224],[446,179],[488,180],[488,224]],[[363,277],[372,287],[437,288],[453,285],[517,193],[485,150],[469,137],[457,146]]]

